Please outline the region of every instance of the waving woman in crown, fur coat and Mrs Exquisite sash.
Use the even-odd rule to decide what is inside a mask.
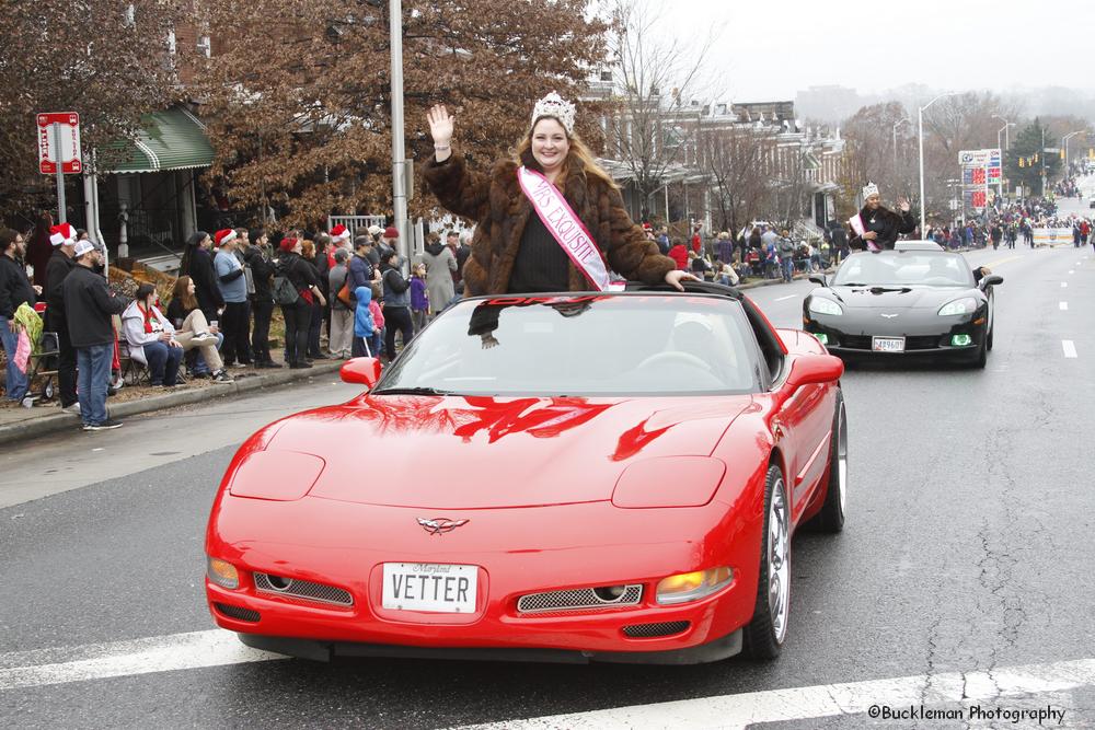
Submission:
[[[463,268],[466,296],[602,290],[612,286],[610,268],[678,289],[694,278],[632,222],[615,183],[575,135],[574,117],[558,94],[543,97],[512,158],[483,174],[453,153],[454,119],[445,106],[429,111],[426,184],[442,206],[477,223]]]

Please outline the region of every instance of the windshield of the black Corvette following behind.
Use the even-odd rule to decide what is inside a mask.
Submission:
[[[884,251],[853,254],[840,265],[833,286],[973,287],[973,273],[958,254],[938,251]]]

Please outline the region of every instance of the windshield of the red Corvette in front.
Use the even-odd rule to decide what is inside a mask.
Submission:
[[[415,337],[372,392],[751,393],[761,382],[759,362],[741,304],[725,297],[474,299],[445,312]]]

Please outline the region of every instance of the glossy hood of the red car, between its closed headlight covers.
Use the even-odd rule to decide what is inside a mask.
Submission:
[[[431,509],[608,500],[637,460],[710,455],[749,395],[365,396],[283,421],[267,451],[326,463],[309,495]]]

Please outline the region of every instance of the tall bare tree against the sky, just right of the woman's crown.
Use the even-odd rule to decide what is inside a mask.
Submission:
[[[717,30],[685,45],[662,32],[647,0],[616,0],[610,36],[613,82],[620,93],[609,120],[607,151],[630,170],[644,201],[665,185],[676,164],[694,161],[701,109],[699,79]]]

